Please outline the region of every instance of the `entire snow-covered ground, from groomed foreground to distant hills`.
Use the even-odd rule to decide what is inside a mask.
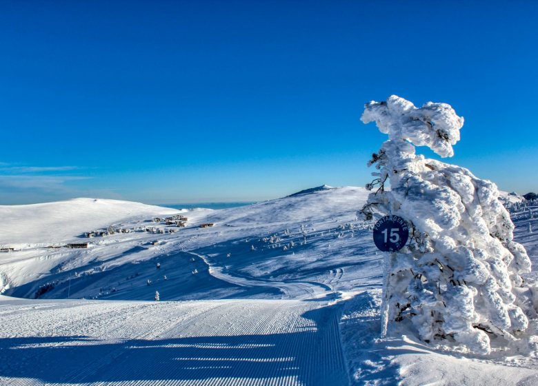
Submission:
[[[0,385],[538,385],[537,352],[379,338],[383,255],[356,216],[367,196],[0,206]],[[536,267],[533,209],[512,219]],[[174,215],[186,226],[154,221]]]

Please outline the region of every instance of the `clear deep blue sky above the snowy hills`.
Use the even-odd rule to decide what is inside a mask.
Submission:
[[[450,103],[447,161],[536,191],[537,20],[530,0],[1,1],[0,204],[362,186],[385,140],[363,103],[390,94]]]

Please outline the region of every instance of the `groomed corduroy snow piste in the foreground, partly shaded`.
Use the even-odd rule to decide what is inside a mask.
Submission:
[[[6,302],[0,385],[348,385],[326,302]]]

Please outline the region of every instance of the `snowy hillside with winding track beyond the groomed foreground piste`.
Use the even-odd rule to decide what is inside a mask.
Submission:
[[[254,290],[245,291],[245,286],[237,283],[203,281],[201,278],[208,275],[208,265],[257,280],[319,281],[331,288],[349,290],[357,281],[377,281],[380,274],[376,252],[367,239],[368,224],[355,218],[366,194],[362,188],[343,187],[226,210],[183,211],[188,217],[185,228],[152,223],[154,216],[173,213],[161,207],[108,201],[106,204],[114,211],[101,207],[100,218],[99,212],[88,209],[96,203],[74,200],[79,206],[86,205],[79,212],[92,214],[88,215],[90,226],[85,227],[79,223],[79,216],[72,214],[71,201],[47,204],[46,210],[54,219],[43,221],[44,229],[35,231],[41,236],[33,241],[40,243],[21,243],[26,224],[15,221],[11,226],[4,225],[3,243],[21,250],[0,255],[3,257],[0,272],[9,283],[8,294],[30,298],[66,298],[69,294],[78,298],[150,300],[153,294],[148,290],[148,280],[154,285],[159,283],[162,300],[308,296],[298,287],[294,292],[289,287],[276,290],[273,285],[263,288],[257,285]],[[10,208],[14,219],[24,219],[27,213],[28,207]],[[59,234],[49,229],[54,221],[57,221],[54,226],[63,229]],[[83,230],[110,223],[132,232],[77,237]],[[215,225],[201,228],[198,226],[201,223]],[[144,228],[154,226],[157,230],[177,232],[143,232]],[[90,247],[83,250],[43,247],[75,239],[79,243],[89,242]],[[159,270],[155,269],[157,263],[161,266]],[[364,265],[372,268],[366,277],[352,274],[357,269],[363,270]]]

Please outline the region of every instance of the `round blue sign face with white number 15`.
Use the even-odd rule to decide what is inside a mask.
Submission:
[[[374,243],[383,252],[396,252],[406,245],[409,228],[400,216],[384,216],[374,225]]]

